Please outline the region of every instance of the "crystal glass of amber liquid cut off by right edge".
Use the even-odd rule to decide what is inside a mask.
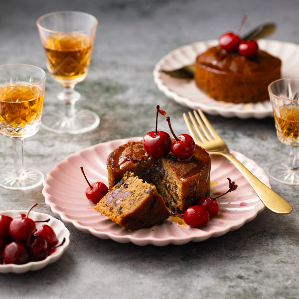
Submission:
[[[274,81],[268,91],[277,137],[290,147],[288,159],[274,163],[270,176],[284,184],[299,185],[299,78]]]

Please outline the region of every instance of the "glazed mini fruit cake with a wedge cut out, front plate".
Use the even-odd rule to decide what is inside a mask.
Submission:
[[[201,197],[210,195],[211,159],[197,145],[190,159],[179,160],[172,152],[161,158],[151,157],[141,141],[129,142],[109,154],[107,169],[109,189],[121,181],[126,171],[132,171],[156,186],[172,212],[184,212]]]

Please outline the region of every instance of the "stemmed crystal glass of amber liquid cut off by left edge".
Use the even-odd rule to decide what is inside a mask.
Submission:
[[[32,65],[0,66],[0,134],[10,137],[14,168],[0,172],[0,186],[27,190],[40,185],[44,175],[24,167],[24,138],[34,135],[40,126],[46,73]]]

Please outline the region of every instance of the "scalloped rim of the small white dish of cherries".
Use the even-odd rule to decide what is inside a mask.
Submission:
[[[13,214],[27,214],[28,210],[5,210],[5,211],[0,211],[0,215],[11,215],[11,213]],[[15,265],[15,264],[4,264],[4,265],[0,265],[0,273],[16,273],[16,274],[21,274],[21,273],[25,273],[28,271],[37,271],[40,270],[44,267],[46,267],[48,264],[52,264],[54,262],[56,262],[62,255],[63,253],[66,251],[66,249],[68,248],[69,244],[70,244],[70,232],[69,230],[66,228],[66,226],[64,225],[64,223],[59,220],[54,218],[53,216],[49,215],[49,214],[45,214],[45,213],[41,213],[41,212],[35,212],[35,211],[30,211],[30,215],[33,217],[33,220],[36,219],[37,216],[42,215],[44,217],[50,218],[52,222],[57,222],[59,223],[58,225],[61,227],[61,230],[63,231],[63,238],[65,238],[65,242],[62,246],[58,247],[56,252],[54,252],[53,254],[47,256],[44,260],[42,261],[31,261],[28,262],[26,264],[22,264],[22,265]]]

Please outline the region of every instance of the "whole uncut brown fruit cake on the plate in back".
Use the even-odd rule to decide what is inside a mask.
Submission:
[[[220,46],[200,54],[195,83],[217,101],[248,103],[269,99],[268,85],[281,77],[281,60],[264,51],[245,58]]]

